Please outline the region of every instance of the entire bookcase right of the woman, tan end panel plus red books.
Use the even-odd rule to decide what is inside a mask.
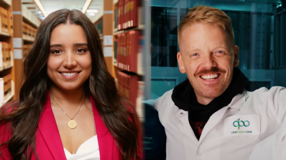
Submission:
[[[111,63],[107,62],[107,67],[111,68],[109,72],[117,81],[119,94],[129,100],[136,108],[140,119],[143,120],[141,102],[143,101],[144,74],[141,59],[144,25],[141,18],[143,11],[141,3],[142,0],[113,0],[112,10],[110,10],[108,8],[110,2],[104,0],[104,7],[98,10],[91,21],[99,32],[104,51],[107,47],[105,45],[107,36],[112,35],[113,41],[109,45],[112,48],[112,59]],[[105,18],[110,15],[112,18]],[[112,25],[111,34],[108,34],[109,24]],[[107,60],[109,57],[106,53],[105,56]]]

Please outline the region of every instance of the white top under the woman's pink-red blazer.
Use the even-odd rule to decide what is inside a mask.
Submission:
[[[97,135],[83,142],[74,155],[66,148],[64,148],[64,151],[67,160],[100,160]]]

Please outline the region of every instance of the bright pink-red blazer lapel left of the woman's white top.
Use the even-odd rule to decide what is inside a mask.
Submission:
[[[44,110],[39,119],[38,128],[54,160],[67,160],[61,136],[51,108],[49,91],[47,91],[47,99]],[[37,151],[37,153],[38,152],[39,151]],[[47,154],[47,151],[44,150],[40,152]]]

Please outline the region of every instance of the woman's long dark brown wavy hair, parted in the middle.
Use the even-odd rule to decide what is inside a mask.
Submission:
[[[39,26],[31,52],[24,61],[23,85],[19,100],[0,110],[0,121],[10,125],[7,145],[13,160],[29,160],[36,154],[36,129],[50,89],[47,59],[50,35],[60,24],[79,25],[85,31],[91,53],[92,70],[85,82],[86,93],[92,95],[108,131],[117,141],[122,160],[138,160],[139,127],[136,111],[119,96],[114,78],[107,70],[102,44],[93,23],[80,11],[62,9],[51,13]],[[31,151],[31,152],[30,152]]]

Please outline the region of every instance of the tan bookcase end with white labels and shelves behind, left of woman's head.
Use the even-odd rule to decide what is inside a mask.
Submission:
[[[36,30],[41,21],[22,4],[22,0],[12,0],[13,23],[14,23],[14,99],[19,98],[21,88],[21,73],[23,71],[23,60],[32,48],[35,41]],[[13,77],[13,76],[12,76]]]

